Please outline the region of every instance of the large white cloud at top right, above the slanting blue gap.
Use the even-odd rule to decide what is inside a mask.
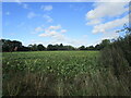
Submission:
[[[97,2],[95,9],[86,13],[87,24],[99,24],[103,17],[115,17],[123,14],[129,9],[128,2]]]

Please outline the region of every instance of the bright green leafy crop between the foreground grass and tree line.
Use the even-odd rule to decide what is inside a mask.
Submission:
[[[3,72],[29,71],[56,73],[58,76],[74,76],[94,71],[97,51],[45,51],[3,53]]]

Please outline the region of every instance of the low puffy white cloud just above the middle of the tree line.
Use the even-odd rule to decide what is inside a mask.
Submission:
[[[86,38],[83,39],[73,39],[64,35],[67,29],[62,29],[61,25],[53,25],[47,27],[43,34],[39,34],[39,37],[49,37],[50,40],[46,42],[49,44],[63,44],[63,45],[72,45],[75,47],[80,47],[80,45],[87,45]],[[45,42],[44,42],[45,44]]]

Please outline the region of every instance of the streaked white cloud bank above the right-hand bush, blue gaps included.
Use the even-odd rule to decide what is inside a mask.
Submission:
[[[129,2],[95,2],[94,9],[85,15],[86,25],[92,25],[92,33],[102,33],[99,39],[93,40],[92,45],[99,44],[103,39],[118,38],[116,30],[129,23],[127,15]],[[127,7],[126,7],[127,5]]]

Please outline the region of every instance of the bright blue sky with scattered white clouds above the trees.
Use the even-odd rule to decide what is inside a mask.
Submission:
[[[74,47],[123,36],[128,2],[2,2],[2,38]]]

